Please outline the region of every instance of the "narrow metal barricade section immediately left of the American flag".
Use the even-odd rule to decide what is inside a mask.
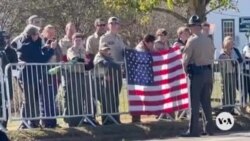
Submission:
[[[128,114],[126,79],[123,78],[122,64],[107,67],[96,66],[92,70],[93,93],[102,123],[120,123],[120,115]],[[98,106],[99,105],[99,106]]]

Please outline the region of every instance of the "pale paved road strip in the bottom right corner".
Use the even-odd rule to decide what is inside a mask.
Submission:
[[[244,133],[231,133],[224,135],[215,135],[215,136],[203,136],[200,138],[171,138],[164,140],[148,140],[148,141],[250,141],[250,131]]]

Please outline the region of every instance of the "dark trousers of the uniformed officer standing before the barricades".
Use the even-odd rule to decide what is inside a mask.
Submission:
[[[190,134],[199,135],[199,109],[200,103],[206,117],[206,131],[212,132],[212,70],[204,68],[199,73],[193,73],[190,78],[190,95],[191,95],[191,123],[189,127]]]

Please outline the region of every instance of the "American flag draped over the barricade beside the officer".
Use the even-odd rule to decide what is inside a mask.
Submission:
[[[131,114],[172,113],[189,107],[179,48],[146,53],[126,50]]]

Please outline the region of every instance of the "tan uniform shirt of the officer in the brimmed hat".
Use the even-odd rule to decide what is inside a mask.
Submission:
[[[183,50],[183,66],[187,72],[189,64],[197,66],[211,65],[214,61],[212,40],[203,34],[192,35]]]

